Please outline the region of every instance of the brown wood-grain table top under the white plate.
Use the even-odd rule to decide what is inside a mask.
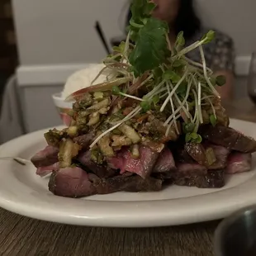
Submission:
[[[256,121],[249,99],[224,102],[231,117]],[[90,228],[32,220],[0,209],[0,255],[211,256],[218,221],[153,229]]]

